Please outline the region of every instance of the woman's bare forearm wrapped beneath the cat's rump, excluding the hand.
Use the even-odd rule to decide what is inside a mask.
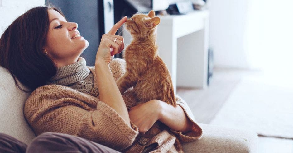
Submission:
[[[161,115],[160,121],[167,125],[169,128],[175,131],[189,132],[192,130],[192,122],[186,116],[184,110],[177,105],[174,107],[172,105],[166,104],[160,101],[161,104]]]

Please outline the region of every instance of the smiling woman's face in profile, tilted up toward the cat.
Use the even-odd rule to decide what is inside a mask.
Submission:
[[[57,67],[75,63],[84,49],[89,46],[89,42],[82,36],[74,37],[75,34],[80,34],[77,23],[67,22],[53,9],[49,9],[48,14],[50,23],[44,49]]]

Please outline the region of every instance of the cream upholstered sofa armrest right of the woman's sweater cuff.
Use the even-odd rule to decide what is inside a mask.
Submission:
[[[199,124],[199,126],[203,129],[202,137],[199,140],[182,144],[185,153],[258,152],[256,132],[208,124]]]

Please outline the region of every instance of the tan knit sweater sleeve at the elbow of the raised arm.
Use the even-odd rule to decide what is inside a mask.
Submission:
[[[130,123],[131,126],[114,109],[99,101],[97,110],[85,112],[75,135],[121,150],[130,146],[138,134],[138,128]]]

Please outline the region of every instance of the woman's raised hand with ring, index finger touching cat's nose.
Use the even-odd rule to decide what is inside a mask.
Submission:
[[[125,16],[108,32],[102,36],[98,52],[96,55],[96,63],[106,63],[109,64],[112,60],[111,56],[121,53],[124,49],[124,39],[122,36],[115,35],[119,27],[127,20]],[[116,39],[116,40],[115,40]],[[114,42],[115,41],[115,42]]]

